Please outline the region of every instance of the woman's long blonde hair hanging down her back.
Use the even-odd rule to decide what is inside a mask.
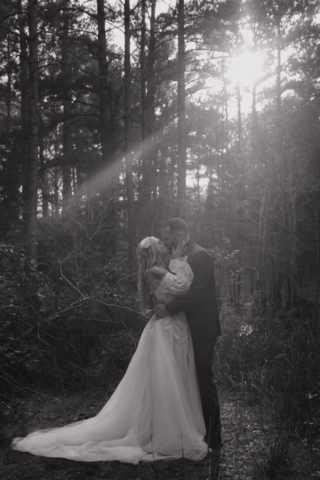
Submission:
[[[137,247],[137,257],[139,259],[139,297],[142,313],[146,313],[150,307],[150,291],[147,283],[149,270],[154,265],[161,265],[162,258],[158,248],[158,238],[144,238]]]

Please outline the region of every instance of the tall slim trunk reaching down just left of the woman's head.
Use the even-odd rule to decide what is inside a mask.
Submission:
[[[130,62],[130,0],[125,0],[124,9],[125,30],[125,53],[124,53],[124,143],[125,143],[125,167],[126,167],[126,190],[127,190],[127,214],[128,214],[128,261],[129,272],[134,265],[134,252],[136,248],[135,219],[134,219],[134,189],[132,174],[132,151],[131,151],[131,62]]]

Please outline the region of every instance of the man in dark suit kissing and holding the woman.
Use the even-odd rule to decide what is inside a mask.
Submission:
[[[162,228],[162,240],[171,252],[180,242],[185,243],[183,256],[194,278],[189,291],[177,295],[166,305],[154,306],[157,318],[185,312],[190,327],[194,359],[199,383],[203,418],[206,426],[205,441],[210,448],[221,447],[221,422],[217,387],[213,383],[213,350],[221,335],[217,309],[213,262],[209,253],[188,235],[188,225],[181,218],[171,218]]]

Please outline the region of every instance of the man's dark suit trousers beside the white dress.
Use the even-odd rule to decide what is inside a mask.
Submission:
[[[215,343],[216,338],[193,340],[206,438],[210,447],[219,447],[222,443],[219,398],[212,370]]]

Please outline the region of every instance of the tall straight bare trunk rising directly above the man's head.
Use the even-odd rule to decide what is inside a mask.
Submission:
[[[186,106],[185,106],[185,37],[184,0],[178,4],[178,213],[185,215],[186,207]]]

